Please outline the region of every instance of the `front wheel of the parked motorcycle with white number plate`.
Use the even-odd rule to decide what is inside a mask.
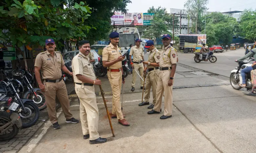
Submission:
[[[31,127],[38,120],[40,116],[40,110],[33,101],[25,102],[24,107],[28,112],[24,113],[24,111],[21,111],[19,113],[22,127]]]

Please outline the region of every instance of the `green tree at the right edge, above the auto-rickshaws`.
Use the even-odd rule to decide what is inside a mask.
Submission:
[[[241,16],[241,34],[248,40],[256,39],[256,9],[245,9]]]

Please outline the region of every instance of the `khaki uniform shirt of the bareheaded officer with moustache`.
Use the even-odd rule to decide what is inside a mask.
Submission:
[[[81,52],[72,59],[72,71],[75,83],[84,83],[77,79],[76,75],[80,74],[86,76],[92,80],[96,80],[96,76],[89,61],[89,57],[85,56]]]

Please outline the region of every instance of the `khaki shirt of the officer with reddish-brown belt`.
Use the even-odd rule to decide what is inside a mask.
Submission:
[[[107,45],[102,51],[102,61],[113,61],[119,56],[122,56],[118,46],[114,46],[112,43]],[[119,61],[111,66],[108,69],[120,69],[122,67],[122,62]]]

